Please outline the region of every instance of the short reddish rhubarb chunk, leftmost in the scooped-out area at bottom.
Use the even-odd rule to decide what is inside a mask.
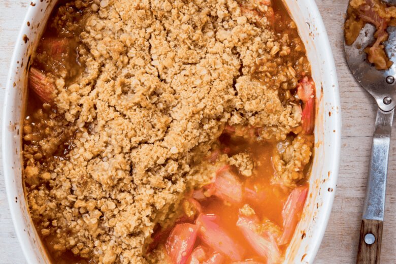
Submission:
[[[184,264],[194,247],[199,227],[194,224],[177,224],[169,236],[166,249],[172,261]]]

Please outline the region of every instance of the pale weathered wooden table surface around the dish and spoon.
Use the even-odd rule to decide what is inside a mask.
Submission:
[[[336,199],[315,263],[354,263],[376,105],[354,81],[345,62],[342,24],[347,0],[316,0],[316,3],[326,25],[336,61],[343,131]],[[0,102],[4,99],[13,46],[29,4],[29,0],[0,0]],[[2,111],[3,108],[0,107],[0,117]],[[393,135],[381,263],[396,263],[396,133]],[[4,178],[0,177],[0,263],[25,263],[15,236],[5,192]]]

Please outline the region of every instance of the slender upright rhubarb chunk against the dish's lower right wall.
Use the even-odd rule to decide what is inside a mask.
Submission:
[[[300,186],[295,188],[287,198],[282,210],[283,234],[279,240],[279,245],[290,242],[294,234],[294,229],[299,223],[301,214],[303,213],[307,194],[308,186]]]

